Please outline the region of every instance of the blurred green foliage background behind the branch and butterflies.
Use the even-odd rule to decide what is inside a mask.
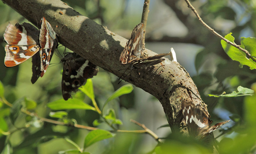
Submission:
[[[98,24],[107,26],[112,32],[129,39],[132,29],[140,23],[143,0],[80,0],[63,1],[74,10],[91,18]],[[225,36],[232,32],[236,44],[240,44],[240,37],[255,37],[256,31],[256,3],[254,0],[196,0],[191,1],[204,22],[215,31]],[[22,24],[28,22],[24,17],[12,10],[8,5],[0,2],[0,35],[3,36],[8,22]],[[55,51],[51,65],[43,78],[35,84],[30,82],[32,75],[31,59],[19,66],[4,67],[4,46],[0,40],[0,81],[4,84],[5,98],[14,101],[27,97],[37,102],[35,112],[42,117],[49,117],[51,111],[46,104],[62,98],[60,53],[64,47]],[[208,105],[208,111],[213,123],[232,119],[218,137],[220,153],[255,153],[256,151],[256,97],[241,96],[231,98],[207,97],[206,94],[231,93],[238,86],[256,90],[256,71],[244,66],[239,68],[239,62],[232,61],[221,47],[220,39],[214,36],[200,24],[183,0],[151,0],[150,12],[146,30],[146,48],[156,53],[169,53],[173,47],[178,62],[186,68],[193,78],[202,100]],[[67,49],[68,50],[68,49]],[[92,78],[95,100],[101,108],[108,96],[121,86],[118,77],[100,68],[97,76]],[[92,105],[91,100],[81,92],[76,97]],[[46,135],[67,136],[79,146],[83,146],[84,137],[89,131],[67,126],[56,126],[44,123],[41,127],[24,127],[26,115],[21,114],[15,122],[10,122],[4,116],[6,105],[0,105],[0,126],[4,131],[13,131],[11,135],[0,135],[0,150],[6,152],[10,145],[13,153],[56,154],[59,151],[74,149],[75,147],[63,138],[39,142]],[[116,136],[97,142],[85,151],[100,153],[208,153],[211,150],[202,143],[195,143],[180,136],[171,134],[169,127],[159,128],[167,124],[167,120],[160,102],[152,95],[134,87],[130,94],[108,103],[107,108],[114,108],[116,117],[123,125],[118,129],[138,130],[139,126],[130,122],[134,119],[143,123],[159,137],[167,137],[165,144],[157,142],[148,134],[116,133]],[[68,118],[76,119],[78,124],[93,126],[92,122],[99,119],[99,115],[91,110],[67,110]],[[56,118],[54,120],[57,120]],[[6,127],[5,127],[6,125]],[[107,125],[100,128],[108,129]],[[157,129],[159,128],[159,129]],[[231,128],[228,129],[228,128]],[[18,130],[16,130],[18,129]],[[15,131],[14,131],[15,130]],[[220,134],[214,132],[215,137]],[[59,152],[60,153],[60,152]]]

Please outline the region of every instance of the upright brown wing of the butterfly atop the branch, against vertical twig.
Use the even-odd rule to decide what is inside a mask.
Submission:
[[[143,47],[143,23],[140,23],[132,30],[131,38],[126,43],[126,46],[120,55],[120,62],[122,64],[127,64],[134,59],[140,58],[140,53]]]

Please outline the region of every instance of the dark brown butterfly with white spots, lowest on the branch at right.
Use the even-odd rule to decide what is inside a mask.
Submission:
[[[195,105],[194,103],[192,103],[192,101],[182,100],[181,109],[185,123],[188,128],[189,136],[199,139],[207,136],[220,126],[230,121],[228,120],[220,122],[210,127],[210,125],[212,124],[212,120],[210,120],[209,118],[211,116],[209,115],[207,109],[202,107],[200,103],[197,103]]]

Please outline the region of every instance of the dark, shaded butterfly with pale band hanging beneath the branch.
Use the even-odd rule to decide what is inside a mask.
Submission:
[[[62,96],[64,100],[68,100],[72,93],[86,83],[87,79],[97,75],[99,69],[76,53],[68,53],[61,61],[64,62],[61,83]]]

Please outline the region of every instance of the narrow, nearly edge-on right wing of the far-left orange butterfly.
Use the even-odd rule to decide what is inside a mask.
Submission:
[[[42,48],[40,50],[40,57],[41,57],[40,76],[43,77],[44,73],[46,72],[50,64],[53,52],[55,48],[58,46],[58,40],[56,38],[56,34],[53,31],[51,24],[45,19],[45,17],[43,17],[41,20],[39,43]]]

